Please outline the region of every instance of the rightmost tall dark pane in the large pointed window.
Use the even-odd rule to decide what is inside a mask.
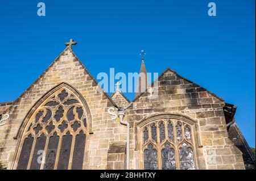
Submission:
[[[80,134],[76,135],[76,141],[75,141],[75,147],[74,147],[73,159],[72,159],[73,170],[82,169],[85,141],[86,141],[86,136],[84,132],[80,131]]]

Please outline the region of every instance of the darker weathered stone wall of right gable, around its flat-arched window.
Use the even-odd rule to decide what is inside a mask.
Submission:
[[[224,117],[224,100],[167,69],[158,80],[158,96],[148,92],[138,96],[127,110],[127,120],[136,125],[142,119],[164,113],[188,116],[196,121],[199,144],[198,169],[245,169],[242,153],[228,138]],[[156,87],[154,87],[154,90]],[[137,128],[131,131],[131,168],[141,169],[136,139]],[[214,161],[212,161],[214,159]]]

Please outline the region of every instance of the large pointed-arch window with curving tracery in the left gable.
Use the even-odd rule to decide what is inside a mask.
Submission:
[[[71,90],[63,87],[50,95],[28,119],[17,169],[82,169],[86,116]]]

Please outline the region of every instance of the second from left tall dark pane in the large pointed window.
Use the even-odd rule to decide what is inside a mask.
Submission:
[[[43,161],[43,151],[44,146],[46,145],[46,136],[42,134],[40,137],[36,138],[36,145],[34,154],[32,157],[30,170],[39,170],[41,163]]]

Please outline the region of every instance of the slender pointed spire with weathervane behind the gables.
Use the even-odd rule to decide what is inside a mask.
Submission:
[[[150,85],[147,78],[147,70],[144,63],[144,50],[141,50],[141,56],[142,56],[142,63],[141,63],[141,70],[139,71],[139,79],[137,84],[137,90],[135,92],[135,97],[140,95],[142,92],[146,92],[147,87]]]

